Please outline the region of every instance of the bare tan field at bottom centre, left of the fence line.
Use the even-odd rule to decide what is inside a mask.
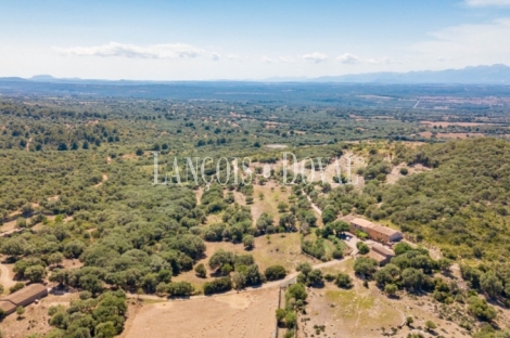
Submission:
[[[186,301],[130,304],[123,338],[270,338],[278,288]]]

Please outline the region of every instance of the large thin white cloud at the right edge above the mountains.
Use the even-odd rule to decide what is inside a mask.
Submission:
[[[486,24],[448,27],[430,34],[432,39],[412,46],[424,60],[455,61],[457,66],[508,63],[510,18]]]

